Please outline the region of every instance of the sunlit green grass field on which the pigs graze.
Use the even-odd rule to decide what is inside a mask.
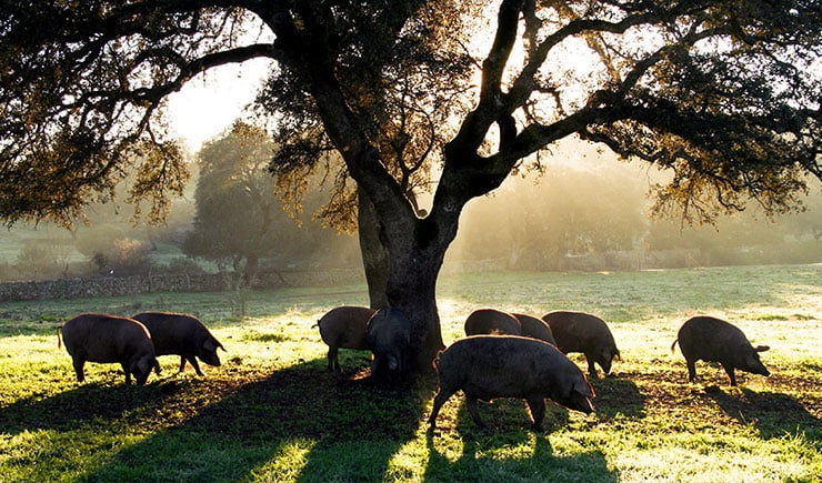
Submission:
[[[620,273],[483,273],[440,281],[443,339],[493,306],[537,316],[560,309],[605,319],[622,351],[593,381],[597,413],[549,407],[529,430],[524,403],[481,404],[477,427],[461,394],[425,420],[435,376],[374,388],[368,354],[341,351],[325,370],[312,325],[362,285],[232,295],[146,294],[0,304],[0,481],[689,481],[818,482],[822,474],[822,265]],[[177,374],[174,356],[146,386],[119,365],[87,364],[74,382],[54,328],[83,311],[197,314],[228,349],[223,365]],[[686,382],[671,342],[684,320],[740,326],[770,378],[698,363]],[[584,361],[572,354],[578,364]]]

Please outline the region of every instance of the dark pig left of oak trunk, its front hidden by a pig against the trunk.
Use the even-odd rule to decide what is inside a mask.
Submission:
[[[338,306],[317,321],[322,342],[328,344],[329,371],[342,372],[337,359],[339,349],[371,349],[365,340],[365,329],[375,312],[367,306]]]

